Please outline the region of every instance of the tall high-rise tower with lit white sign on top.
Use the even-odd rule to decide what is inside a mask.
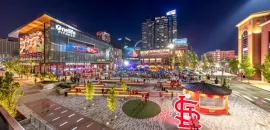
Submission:
[[[142,49],[163,49],[177,38],[176,10],[142,23]]]

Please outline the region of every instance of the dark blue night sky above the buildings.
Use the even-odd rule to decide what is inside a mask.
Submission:
[[[95,35],[141,39],[141,23],[176,9],[178,37],[187,37],[200,55],[215,49],[237,50],[235,25],[253,12],[270,10],[270,0],[4,0],[0,2],[0,37],[43,12]]]

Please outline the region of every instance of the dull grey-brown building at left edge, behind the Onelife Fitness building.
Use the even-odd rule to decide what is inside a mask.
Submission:
[[[19,56],[19,42],[8,38],[0,38],[0,60],[10,59]]]

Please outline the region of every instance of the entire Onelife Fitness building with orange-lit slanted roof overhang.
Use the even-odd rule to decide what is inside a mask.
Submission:
[[[21,26],[10,37],[19,38],[20,58],[37,61],[35,71],[56,75],[90,73],[113,66],[113,47],[47,14]]]

